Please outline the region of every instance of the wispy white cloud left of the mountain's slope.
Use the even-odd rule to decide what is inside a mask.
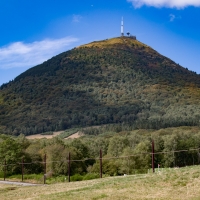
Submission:
[[[33,67],[78,41],[76,38],[46,39],[33,43],[15,42],[0,47],[0,68]]]

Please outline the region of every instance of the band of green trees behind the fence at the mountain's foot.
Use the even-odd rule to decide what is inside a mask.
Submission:
[[[200,163],[200,128],[178,127],[160,130],[133,130],[118,125],[88,128],[78,139],[28,140],[0,135],[0,175],[7,163],[7,176],[20,174],[22,158],[25,174],[68,174],[71,153],[71,175],[99,177],[99,151],[103,154],[103,174],[108,176],[147,173],[151,169],[152,140],[155,144],[155,166],[185,167]],[[117,131],[117,132],[116,132]]]

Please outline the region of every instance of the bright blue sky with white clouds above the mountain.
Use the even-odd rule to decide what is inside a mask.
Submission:
[[[200,0],[0,0],[0,85],[124,30],[200,74]]]

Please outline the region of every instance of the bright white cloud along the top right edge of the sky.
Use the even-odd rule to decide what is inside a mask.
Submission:
[[[200,7],[200,0],[127,0],[131,2],[135,8],[140,8],[144,5],[153,7],[168,7],[168,8],[185,8],[188,6]]]

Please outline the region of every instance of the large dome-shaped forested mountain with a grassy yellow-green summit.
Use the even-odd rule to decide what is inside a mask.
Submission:
[[[199,125],[200,76],[130,37],[61,53],[0,89],[0,132]]]

